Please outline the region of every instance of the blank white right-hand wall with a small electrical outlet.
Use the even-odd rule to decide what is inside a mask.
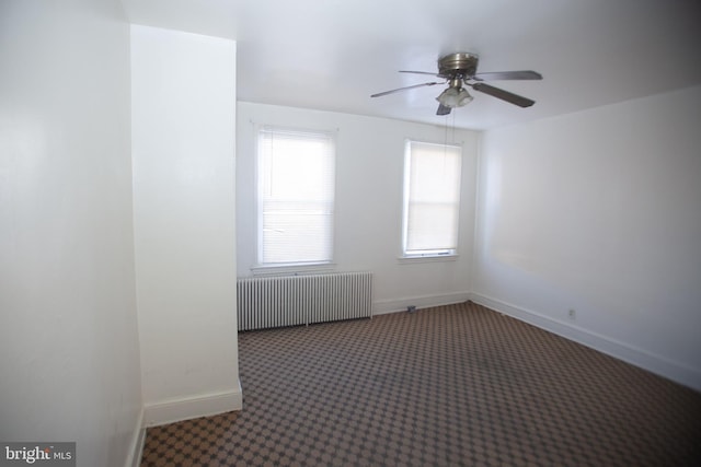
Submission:
[[[478,300],[701,388],[699,121],[701,86],[487,131]]]

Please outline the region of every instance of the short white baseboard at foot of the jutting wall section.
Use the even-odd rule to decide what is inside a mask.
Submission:
[[[241,392],[241,383],[239,382],[238,390],[147,404],[143,407],[143,422],[145,427],[157,427],[199,417],[216,416],[232,410],[241,410],[242,407],[243,394]]]

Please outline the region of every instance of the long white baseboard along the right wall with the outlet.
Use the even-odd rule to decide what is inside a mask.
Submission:
[[[701,372],[685,364],[670,361],[664,357],[655,355],[616,339],[601,336],[597,332],[593,332],[587,329],[573,326],[568,323],[553,319],[540,313],[525,310],[479,293],[471,293],[469,300],[547,331],[556,334],[558,336],[574,340],[583,346],[598,350],[599,352],[642,367],[676,383],[691,387],[696,390],[701,390]]]

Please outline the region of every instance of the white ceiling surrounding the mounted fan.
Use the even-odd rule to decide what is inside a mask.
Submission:
[[[235,39],[241,101],[484,129],[701,83],[698,0],[123,0],[133,23]],[[519,108],[473,92],[435,115],[447,52],[479,71],[531,69],[499,81],[537,101]]]

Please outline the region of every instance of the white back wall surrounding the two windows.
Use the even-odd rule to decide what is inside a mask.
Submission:
[[[448,120],[449,121],[449,120]],[[459,257],[453,261],[406,261],[401,254],[404,141],[445,142],[446,128],[273,105],[239,103],[237,141],[238,271],[256,266],[256,126],[335,130],[336,271],[375,272],[375,313],[460,302],[470,290],[479,133],[456,130],[463,143]],[[449,141],[453,130],[448,131]]]

